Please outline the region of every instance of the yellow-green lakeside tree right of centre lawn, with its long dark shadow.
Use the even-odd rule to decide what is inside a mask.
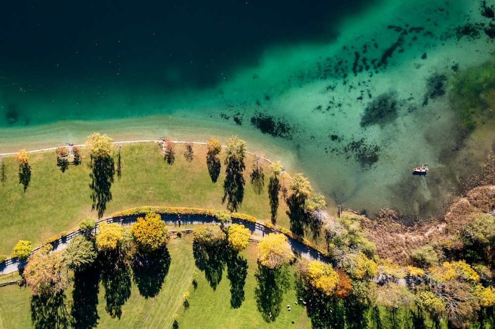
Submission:
[[[244,199],[244,158],[246,156],[246,142],[233,136],[227,143],[227,155],[225,158],[225,181],[223,184],[224,196],[222,202],[227,200],[227,209],[237,211]]]

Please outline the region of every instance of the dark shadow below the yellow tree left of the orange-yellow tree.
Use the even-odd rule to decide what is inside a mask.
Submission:
[[[102,253],[101,282],[105,289],[106,312],[112,318],[122,316],[122,305],[131,296],[131,269],[118,251]]]

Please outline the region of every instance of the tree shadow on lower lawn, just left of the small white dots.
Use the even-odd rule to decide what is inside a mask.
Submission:
[[[258,312],[265,322],[273,322],[280,314],[284,293],[290,288],[288,270],[285,266],[270,269],[258,263],[254,277],[258,284],[254,290]]]

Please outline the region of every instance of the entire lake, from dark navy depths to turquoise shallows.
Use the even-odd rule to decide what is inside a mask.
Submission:
[[[439,214],[492,147],[494,129],[465,134],[449,86],[491,60],[494,1],[341,2],[10,4],[0,152],[94,130],[238,134],[331,209]]]

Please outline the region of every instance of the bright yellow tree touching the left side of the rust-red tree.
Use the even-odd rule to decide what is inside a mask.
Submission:
[[[309,262],[306,276],[311,286],[321,290],[327,296],[334,294],[340,282],[339,274],[334,271],[331,264],[325,264],[317,260]]]

